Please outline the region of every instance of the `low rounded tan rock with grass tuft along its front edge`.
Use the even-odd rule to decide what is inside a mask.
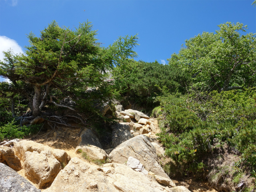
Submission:
[[[92,160],[105,160],[107,157],[107,153],[103,149],[93,145],[83,146],[82,152],[85,152]]]

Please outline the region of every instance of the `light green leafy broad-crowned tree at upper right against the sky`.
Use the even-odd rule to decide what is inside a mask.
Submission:
[[[216,33],[203,32],[186,40],[169,65],[187,71],[196,87],[204,90],[232,90],[256,86],[256,34],[243,24],[226,22]]]

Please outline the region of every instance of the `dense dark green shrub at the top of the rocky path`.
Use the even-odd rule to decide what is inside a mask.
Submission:
[[[190,85],[190,77],[176,67],[156,62],[130,61],[126,66],[112,71],[118,89],[130,100],[144,107],[157,106],[156,97],[164,90],[184,93]]]

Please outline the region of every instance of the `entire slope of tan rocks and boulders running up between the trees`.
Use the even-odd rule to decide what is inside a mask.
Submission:
[[[72,153],[63,150],[64,147],[51,148],[47,141],[2,143],[0,162],[13,170],[10,186],[6,166],[0,169],[0,188],[14,191],[15,186],[15,191],[45,192],[189,192],[184,186],[176,186],[160,166],[158,156],[164,150],[156,142],[156,120],[136,110],[116,113],[125,122],[112,126],[113,148],[103,148],[90,129],[80,131]],[[58,135],[53,134],[55,138]],[[96,162],[101,162],[101,166]],[[22,180],[20,184],[20,176],[14,170],[30,183]]]

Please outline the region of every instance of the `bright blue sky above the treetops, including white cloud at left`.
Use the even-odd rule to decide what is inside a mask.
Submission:
[[[184,40],[240,22],[256,33],[253,0],[0,0],[0,51],[24,52],[26,34],[39,36],[52,20],[76,27],[89,20],[103,46],[138,34],[136,60],[165,63]],[[2,55],[0,54],[0,60]]]

